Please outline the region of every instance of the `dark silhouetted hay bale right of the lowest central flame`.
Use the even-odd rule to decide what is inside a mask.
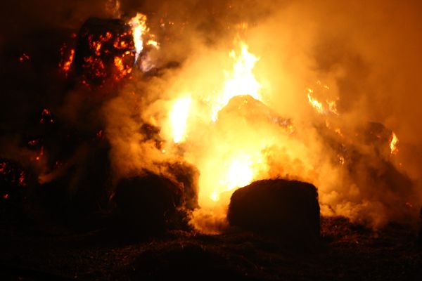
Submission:
[[[227,214],[232,226],[289,242],[319,238],[318,193],[300,181],[255,181],[231,196]]]

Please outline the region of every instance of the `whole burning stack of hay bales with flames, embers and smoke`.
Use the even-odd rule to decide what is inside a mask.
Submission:
[[[306,81],[299,75],[300,86],[281,79],[286,73],[274,69],[285,69],[257,43],[260,28],[274,23],[227,23],[227,34],[204,43],[186,21],[151,16],[89,18],[60,49],[59,71],[77,83],[63,87],[54,115],[42,110],[20,141],[30,159],[0,155],[2,204],[13,190],[31,188],[32,173],[44,200],[66,198],[63,213],[114,212],[141,233],[188,226],[218,233],[228,216],[248,230],[283,234],[288,225],[290,237],[315,239],[319,205],[324,216],[371,226],[417,213],[416,183],[401,158],[406,142],[381,121],[350,122],[356,115],[330,75],[332,90],[314,72]],[[195,48],[169,59],[184,43],[174,38]],[[281,80],[291,87],[277,86]],[[96,95],[104,92],[112,94]]]

